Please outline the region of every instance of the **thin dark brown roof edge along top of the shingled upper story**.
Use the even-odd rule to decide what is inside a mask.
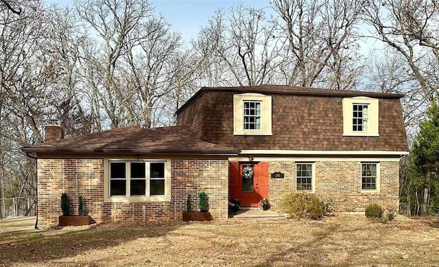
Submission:
[[[302,86],[290,86],[290,85],[254,85],[254,86],[230,86],[230,87],[202,87],[195,93],[185,104],[183,104],[176,114],[181,113],[193,101],[197,100],[205,92],[217,92],[217,93],[262,93],[269,95],[309,95],[309,96],[321,96],[321,97],[356,97],[366,96],[375,98],[401,98],[403,94],[399,93],[375,93],[364,91],[348,91],[348,90],[334,90],[334,89],[322,89]]]

